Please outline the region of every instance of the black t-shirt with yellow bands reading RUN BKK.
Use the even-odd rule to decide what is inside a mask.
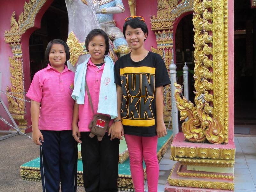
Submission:
[[[124,133],[151,137],[156,135],[155,88],[170,84],[170,78],[159,54],[148,52],[141,61],[131,53],[115,63],[115,83],[122,87],[121,118]]]

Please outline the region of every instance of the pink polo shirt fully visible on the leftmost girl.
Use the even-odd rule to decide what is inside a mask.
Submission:
[[[26,96],[41,103],[40,130],[72,130],[73,89],[74,73],[66,66],[60,73],[48,64],[35,74]]]

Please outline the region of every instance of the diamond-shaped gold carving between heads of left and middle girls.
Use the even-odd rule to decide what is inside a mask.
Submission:
[[[71,31],[68,35],[68,39],[67,39],[67,44],[69,47],[69,51],[70,51],[70,59],[69,62],[75,66],[78,58],[80,55],[82,55],[82,52],[84,50],[84,47],[82,46],[82,44],[79,42],[79,40],[77,39],[74,31]]]

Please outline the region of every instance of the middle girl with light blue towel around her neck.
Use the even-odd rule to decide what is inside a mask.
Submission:
[[[89,124],[93,112],[85,91],[85,79],[92,98],[93,110],[97,114],[117,117],[117,95],[114,83],[114,63],[107,56],[108,35],[101,29],[93,29],[85,39],[90,53],[84,63],[77,66],[75,88],[72,93],[76,100],[73,112],[73,136],[81,143],[84,188],[86,192],[117,192],[119,139],[110,140],[108,132],[99,141],[97,136],[89,137]],[[111,132],[110,121],[109,127]]]

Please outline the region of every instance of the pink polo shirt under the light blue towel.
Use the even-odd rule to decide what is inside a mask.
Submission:
[[[99,95],[100,95],[100,80],[101,80],[104,66],[105,66],[105,63],[100,68],[98,68],[96,65],[92,63],[91,59],[87,64],[85,78],[86,78],[89,92],[92,98],[93,110],[96,114],[99,114],[97,113],[97,110],[98,110]],[[90,132],[91,130],[89,129],[89,124],[93,119],[93,113],[92,113],[91,105],[90,105],[86,91],[84,96],[84,105],[79,105],[78,119],[79,119],[78,120],[79,131]],[[112,123],[113,123],[113,120],[109,122],[108,126],[110,127]]]

